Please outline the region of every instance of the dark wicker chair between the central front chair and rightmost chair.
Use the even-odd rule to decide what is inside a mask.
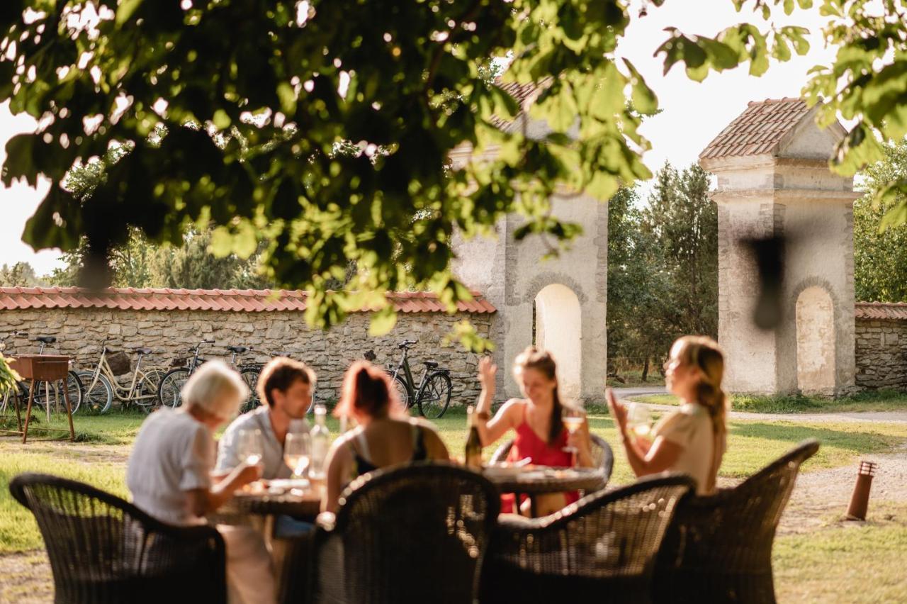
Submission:
[[[535,520],[502,520],[480,601],[649,601],[655,558],[685,476],[646,478]]]

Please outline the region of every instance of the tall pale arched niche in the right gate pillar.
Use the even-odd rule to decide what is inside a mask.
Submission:
[[[796,298],[796,383],[803,393],[834,394],[834,304],[822,287]]]

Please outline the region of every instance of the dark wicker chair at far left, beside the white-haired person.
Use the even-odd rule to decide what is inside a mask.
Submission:
[[[45,474],[20,474],[9,490],[44,537],[54,601],[226,601],[224,541],[213,528],[164,524],[110,493]]]

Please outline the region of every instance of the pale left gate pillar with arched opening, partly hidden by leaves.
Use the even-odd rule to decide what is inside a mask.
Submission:
[[[543,258],[548,248],[540,238],[513,239],[518,217],[509,216],[497,225],[494,239],[454,239],[457,258],[453,272],[467,286],[482,292],[497,313],[492,337],[497,346],[494,359],[499,366],[498,399],[520,396],[512,376],[513,361],[532,345],[533,318],[536,344],[565,347],[553,350],[559,361],[562,389],[567,398],[584,404],[603,403],[606,373],[606,307],[608,279],[608,206],[588,196],[553,200],[553,213],[560,219],[578,222],[583,234],[571,241],[556,258]],[[559,286],[551,288],[551,286]],[[548,288],[548,289],[546,289]],[[566,293],[565,289],[570,293]],[[544,291],[543,291],[544,290]],[[557,290],[557,295],[546,296]],[[536,307],[540,293],[548,304]],[[552,334],[565,323],[561,314],[574,312],[579,303],[576,333]],[[533,312],[534,311],[534,312]],[[548,336],[544,336],[544,334]],[[577,371],[575,364],[579,364]]]

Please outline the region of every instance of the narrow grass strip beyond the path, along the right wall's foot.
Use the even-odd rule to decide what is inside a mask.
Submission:
[[[640,395],[634,401],[652,404],[678,404],[675,395]],[[902,390],[883,389],[858,393],[841,398],[824,396],[760,396],[731,395],[734,411],[756,414],[834,414],[865,411],[907,411],[907,393]]]

